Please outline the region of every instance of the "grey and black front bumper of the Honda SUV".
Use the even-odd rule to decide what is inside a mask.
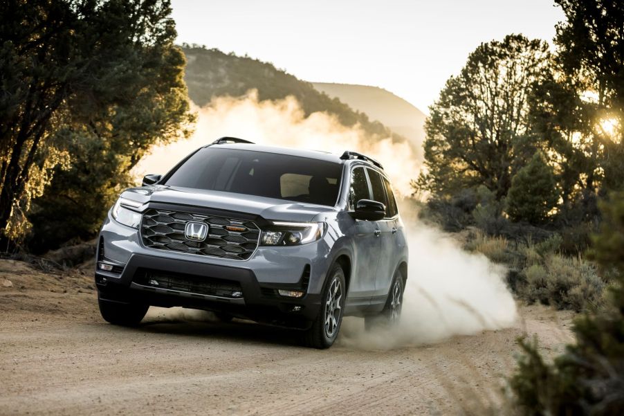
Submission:
[[[95,282],[104,301],[226,311],[294,327],[308,325],[320,309],[320,291],[329,269],[329,242],[324,239],[303,246],[261,246],[253,257],[241,261],[145,248],[138,230],[118,224],[110,215],[100,237],[98,258],[103,250],[101,260],[115,264],[116,271],[121,271],[96,269]],[[242,296],[214,296],[141,284],[138,276],[145,270],[235,282],[240,285]],[[279,296],[277,289],[304,290],[306,294],[302,298],[287,298]]]

